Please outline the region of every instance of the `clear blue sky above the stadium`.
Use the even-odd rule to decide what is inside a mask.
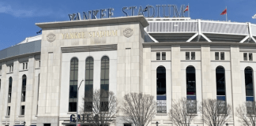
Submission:
[[[225,20],[220,13],[227,6],[228,20],[256,24],[256,19],[251,18],[256,13],[256,0],[1,0],[0,50],[36,35],[40,31],[36,23],[69,20],[69,13],[114,8],[114,17],[122,17],[123,6],[177,5],[179,8],[188,3],[192,19]]]

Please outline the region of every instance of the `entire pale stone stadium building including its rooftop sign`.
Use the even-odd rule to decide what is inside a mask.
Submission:
[[[175,125],[168,112],[179,98],[230,104],[228,124],[242,125],[235,108],[254,101],[256,24],[193,20],[184,6],[136,8],[123,7],[126,17],[99,9],[38,23],[42,35],[0,50],[0,125],[75,124],[80,83],[80,107],[86,88],[104,87],[119,101],[130,92],[153,95],[152,126]],[[196,113],[191,125],[206,125]],[[117,126],[129,125],[120,117]]]

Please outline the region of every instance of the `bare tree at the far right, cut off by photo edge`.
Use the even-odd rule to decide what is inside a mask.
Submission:
[[[245,102],[235,108],[235,116],[239,121],[247,126],[256,125],[255,102]]]

